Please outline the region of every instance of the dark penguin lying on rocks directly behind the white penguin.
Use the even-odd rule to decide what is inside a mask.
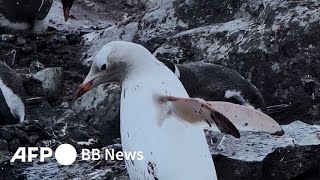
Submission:
[[[202,62],[174,65],[158,59],[179,77],[190,97],[265,107],[261,92],[234,70]]]

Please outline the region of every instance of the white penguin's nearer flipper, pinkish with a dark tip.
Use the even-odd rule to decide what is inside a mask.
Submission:
[[[161,106],[161,115],[176,115],[189,123],[202,123],[204,127],[216,126],[221,132],[240,138],[240,133],[233,123],[210,103],[197,98],[157,96]],[[165,112],[165,114],[163,114]]]

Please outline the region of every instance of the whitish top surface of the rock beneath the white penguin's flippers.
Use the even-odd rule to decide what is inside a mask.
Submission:
[[[210,145],[212,154],[222,154],[232,159],[243,161],[262,161],[276,148],[287,146],[307,146],[320,144],[320,126],[309,125],[295,121],[282,125],[283,136],[273,136],[265,133],[243,132],[240,139],[226,136],[222,146],[223,150]],[[218,137],[221,135],[217,135]]]

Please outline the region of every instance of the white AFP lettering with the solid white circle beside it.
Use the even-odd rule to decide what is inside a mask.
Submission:
[[[40,162],[44,162],[46,158],[52,156],[53,151],[49,147],[19,147],[10,162],[15,162],[16,160],[32,162],[37,158]],[[77,151],[70,144],[61,144],[57,147],[54,156],[61,165],[71,165],[77,158]]]

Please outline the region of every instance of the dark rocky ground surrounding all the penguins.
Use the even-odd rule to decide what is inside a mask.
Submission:
[[[235,140],[207,132],[219,179],[319,179],[317,0],[79,0],[71,14],[64,22],[55,2],[46,33],[0,35],[0,57],[23,77],[28,111],[24,123],[0,127],[0,179],[128,179],[121,161],[8,162],[19,146],[121,150],[119,85],[72,101],[92,54],[112,40],[140,43],[175,63],[229,67],[256,85],[267,105],[291,104],[276,116],[288,124],[285,136]]]

